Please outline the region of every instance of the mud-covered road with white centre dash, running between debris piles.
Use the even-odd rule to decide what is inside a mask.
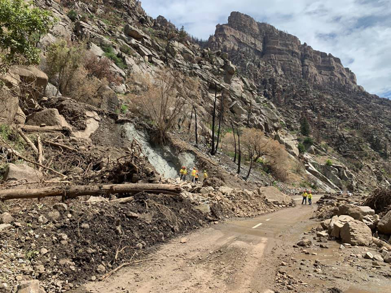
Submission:
[[[161,246],[155,260],[87,283],[79,292],[272,292],[276,249],[315,225],[308,221],[315,207],[299,204],[194,231],[183,236],[186,243],[176,238]]]

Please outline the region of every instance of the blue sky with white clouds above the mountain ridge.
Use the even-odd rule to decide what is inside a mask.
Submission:
[[[248,14],[340,57],[358,84],[391,98],[390,0],[143,0],[142,7],[203,39],[231,11]]]

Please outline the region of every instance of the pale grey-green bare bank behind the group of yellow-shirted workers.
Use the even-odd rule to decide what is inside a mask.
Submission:
[[[143,154],[148,157],[156,171],[165,178],[178,178],[181,166],[192,168],[196,163],[196,158],[191,153],[176,154],[168,146],[152,144],[148,133],[137,130],[131,123],[126,123],[124,129],[130,141],[136,139],[141,144]]]

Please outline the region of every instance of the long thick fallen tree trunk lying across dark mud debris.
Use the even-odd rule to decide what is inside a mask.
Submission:
[[[145,191],[147,193],[163,193],[178,195],[181,188],[170,184],[108,184],[108,185],[78,185],[78,186],[58,186],[44,187],[38,189],[13,189],[1,190],[0,200],[10,200],[19,198],[42,198],[62,196],[63,198],[75,198],[83,195],[109,195],[123,193],[138,193]]]

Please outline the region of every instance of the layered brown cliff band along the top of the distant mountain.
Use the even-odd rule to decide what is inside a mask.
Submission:
[[[217,25],[208,41],[212,49],[221,49],[233,57],[236,65],[245,67],[238,53],[251,56],[253,63],[267,63],[288,79],[305,79],[311,85],[338,88],[346,92],[363,91],[356,76],[344,68],[337,57],[312,49],[291,34],[266,23],[256,22],[248,15],[232,12],[228,23]]]

